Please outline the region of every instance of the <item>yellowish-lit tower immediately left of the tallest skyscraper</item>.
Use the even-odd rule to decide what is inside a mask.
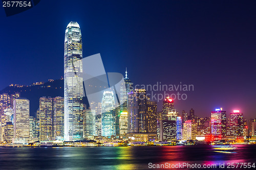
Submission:
[[[64,137],[64,98],[53,98],[53,138]]]

